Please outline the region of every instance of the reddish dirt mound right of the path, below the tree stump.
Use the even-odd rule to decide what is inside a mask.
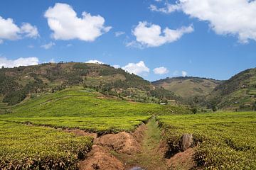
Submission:
[[[171,169],[192,169],[195,167],[195,162],[193,161],[193,153],[193,149],[188,148],[184,152],[174,154],[173,157],[167,159],[167,165]]]

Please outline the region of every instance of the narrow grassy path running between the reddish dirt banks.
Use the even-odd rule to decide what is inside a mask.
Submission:
[[[140,167],[146,170],[164,170],[167,169],[163,153],[159,149],[161,139],[161,130],[159,129],[155,118],[151,118],[146,124],[144,138],[142,140],[142,152],[131,155],[114,154],[118,159],[122,160],[125,169],[136,169]]]

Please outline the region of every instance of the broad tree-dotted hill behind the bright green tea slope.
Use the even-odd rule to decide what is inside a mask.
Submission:
[[[0,69],[0,98],[9,105],[68,86],[90,87],[102,94],[132,101],[159,103],[180,99],[171,91],[155,88],[142,77],[107,64],[60,62]]]

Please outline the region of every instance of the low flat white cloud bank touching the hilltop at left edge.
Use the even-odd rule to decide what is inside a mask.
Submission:
[[[5,57],[0,57],[0,67],[19,67],[28,65],[37,65],[39,60],[37,57],[18,58],[16,60],[8,60]]]

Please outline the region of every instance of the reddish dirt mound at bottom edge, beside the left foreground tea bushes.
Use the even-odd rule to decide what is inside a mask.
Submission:
[[[92,150],[87,154],[87,159],[80,162],[80,170],[123,170],[124,164],[116,159],[103,147],[93,145]]]

